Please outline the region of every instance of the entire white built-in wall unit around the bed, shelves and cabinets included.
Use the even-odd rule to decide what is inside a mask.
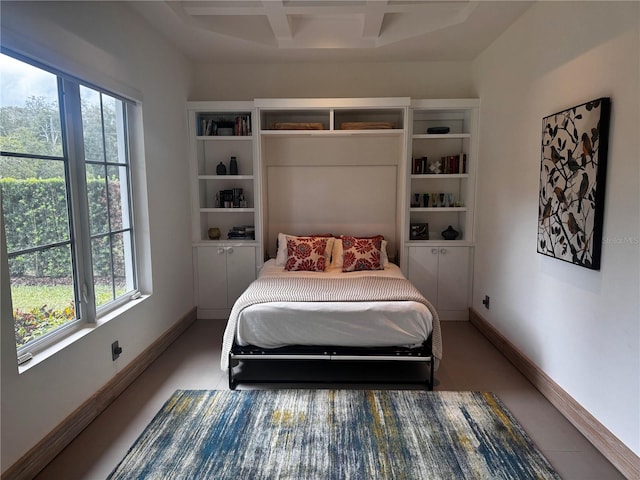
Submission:
[[[189,102],[198,315],[228,315],[278,233],[331,232],[383,234],[441,318],[468,318],[478,110],[477,99]],[[230,238],[234,227],[255,238]]]

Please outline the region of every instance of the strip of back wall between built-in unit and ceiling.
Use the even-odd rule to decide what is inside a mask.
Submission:
[[[190,92],[190,100],[475,96],[469,62],[200,64]]]

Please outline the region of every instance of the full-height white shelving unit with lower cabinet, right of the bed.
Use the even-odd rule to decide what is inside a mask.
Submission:
[[[469,317],[478,108],[477,99],[413,100],[409,112],[401,263],[444,320]],[[449,226],[455,240],[443,236]]]

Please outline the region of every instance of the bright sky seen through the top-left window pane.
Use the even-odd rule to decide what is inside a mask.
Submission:
[[[57,100],[56,76],[0,54],[0,106],[23,106],[31,96]]]

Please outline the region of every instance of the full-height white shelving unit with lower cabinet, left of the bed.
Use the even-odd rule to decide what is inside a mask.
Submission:
[[[199,318],[226,318],[262,259],[255,109],[253,102],[187,108],[195,301]]]

